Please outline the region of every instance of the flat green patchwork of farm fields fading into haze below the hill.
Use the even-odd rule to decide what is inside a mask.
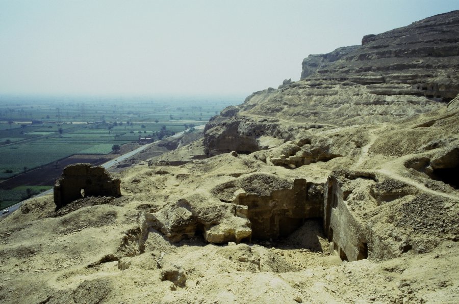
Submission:
[[[50,168],[60,175],[62,165],[72,163],[67,160],[72,155],[108,160],[125,144],[138,143],[141,137],[158,140],[205,124],[237,102],[0,96],[0,204],[9,206],[51,187],[55,174]]]

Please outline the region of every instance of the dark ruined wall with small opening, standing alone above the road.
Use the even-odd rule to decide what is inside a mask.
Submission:
[[[71,164],[64,168],[54,184],[54,203],[59,209],[83,196],[120,197],[120,183],[103,167],[93,167],[90,163]]]

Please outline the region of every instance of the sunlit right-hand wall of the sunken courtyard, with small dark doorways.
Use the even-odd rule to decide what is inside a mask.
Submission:
[[[363,205],[377,203],[374,202],[371,194],[374,190],[368,187],[369,184],[375,183],[376,177],[372,173],[333,171],[328,176],[323,201],[324,231],[330,242],[330,251],[335,252],[342,260],[356,261],[397,256],[398,243],[387,241],[388,237],[383,230],[368,225],[368,221],[362,220],[363,218],[356,211],[356,208],[362,208],[356,205],[357,201],[362,202]],[[391,194],[385,190],[382,193],[378,192],[377,196],[382,200],[383,196],[397,198],[401,193]],[[376,206],[373,206],[374,208]]]

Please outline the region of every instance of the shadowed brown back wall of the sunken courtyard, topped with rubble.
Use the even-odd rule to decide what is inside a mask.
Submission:
[[[258,240],[285,237],[306,218],[322,216],[322,197],[309,196],[315,185],[267,174],[250,174],[212,189],[220,201],[236,204],[236,214],[251,223],[251,237]],[[239,207],[239,208],[238,208]]]

